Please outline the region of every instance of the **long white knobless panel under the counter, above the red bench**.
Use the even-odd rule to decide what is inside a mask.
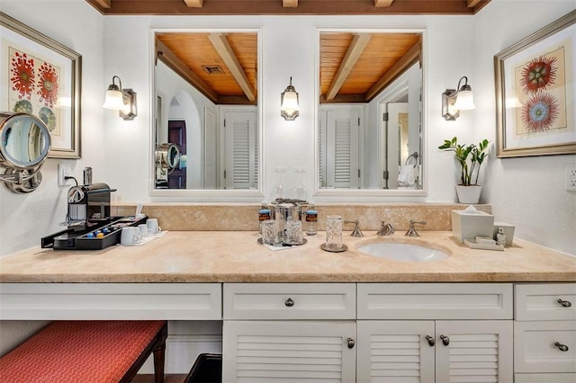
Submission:
[[[2,319],[220,320],[220,283],[1,283]]]

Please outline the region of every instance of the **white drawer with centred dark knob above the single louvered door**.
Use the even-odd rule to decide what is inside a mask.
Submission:
[[[224,319],[355,319],[354,283],[225,283]]]

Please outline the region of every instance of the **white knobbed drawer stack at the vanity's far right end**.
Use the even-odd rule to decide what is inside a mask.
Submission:
[[[576,381],[576,283],[515,285],[516,383]]]

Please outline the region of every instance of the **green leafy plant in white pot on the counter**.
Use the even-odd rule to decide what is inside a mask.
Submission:
[[[482,186],[478,184],[478,176],[482,163],[488,156],[489,141],[482,139],[476,144],[458,144],[458,138],[445,139],[438,149],[453,151],[456,161],[461,167],[460,184],[456,185],[458,201],[461,203],[478,203]]]

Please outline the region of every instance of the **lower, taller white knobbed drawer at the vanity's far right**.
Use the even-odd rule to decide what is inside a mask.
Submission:
[[[563,346],[565,351],[561,350]],[[514,369],[516,372],[576,372],[576,323],[516,322]]]

